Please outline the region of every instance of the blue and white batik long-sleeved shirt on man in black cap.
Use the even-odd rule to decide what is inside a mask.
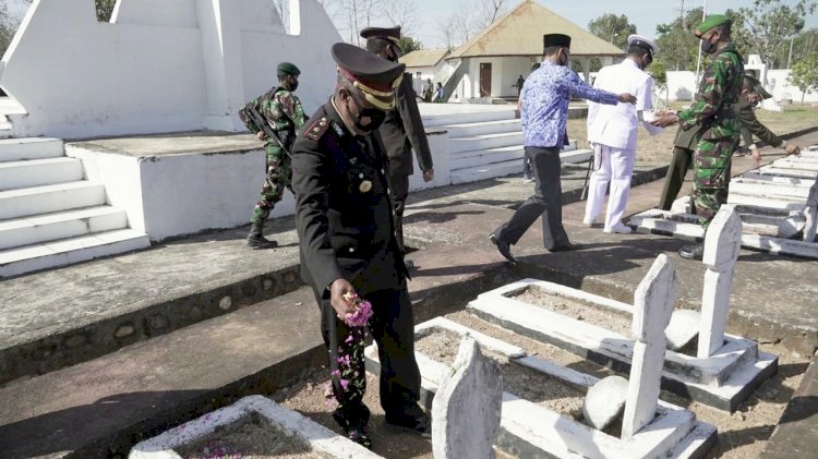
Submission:
[[[568,101],[580,97],[616,105],[619,96],[597,89],[567,67],[544,61],[522,85],[522,137],[525,146],[555,147],[567,140]]]

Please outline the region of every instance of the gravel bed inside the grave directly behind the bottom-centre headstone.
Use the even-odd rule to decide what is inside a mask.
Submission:
[[[414,343],[414,350],[426,357],[452,365],[457,357],[462,336],[446,329],[431,329]],[[509,361],[505,355],[485,348],[483,355],[500,364],[503,372],[503,390],[530,402],[545,407],[566,418],[582,418],[585,395],[560,379]]]

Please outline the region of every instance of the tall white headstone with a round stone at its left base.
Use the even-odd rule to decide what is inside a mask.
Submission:
[[[634,436],[655,415],[666,349],[664,329],[671,321],[675,301],[676,269],[670,258],[662,254],[653,262],[634,294],[631,331],[636,342],[622,438]]]

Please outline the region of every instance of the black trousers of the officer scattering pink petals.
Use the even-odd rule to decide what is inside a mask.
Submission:
[[[338,318],[328,299],[322,299],[315,290],[313,293],[321,309],[321,335],[329,353],[329,369],[330,372],[335,372],[338,370],[338,348],[347,340],[349,328]],[[399,413],[420,398],[420,370],[414,360],[412,303],[409,301],[406,287],[366,293],[363,299],[372,303],[374,312],[369,330],[377,343],[381,359],[381,407],[387,413]],[[333,389],[340,404],[338,412],[351,425],[359,425],[365,424],[369,419],[369,410],[362,402],[366,385],[362,352],[353,360],[353,366],[360,379],[344,390],[338,383],[338,375],[333,374]]]

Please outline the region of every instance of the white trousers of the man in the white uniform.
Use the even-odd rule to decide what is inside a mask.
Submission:
[[[585,207],[587,221],[596,220],[602,209],[605,190],[611,184],[611,197],[608,200],[605,229],[622,222],[630,191],[630,176],[634,172],[636,150],[613,148],[594,144],[594,171],[588,184],[588,202]]]

